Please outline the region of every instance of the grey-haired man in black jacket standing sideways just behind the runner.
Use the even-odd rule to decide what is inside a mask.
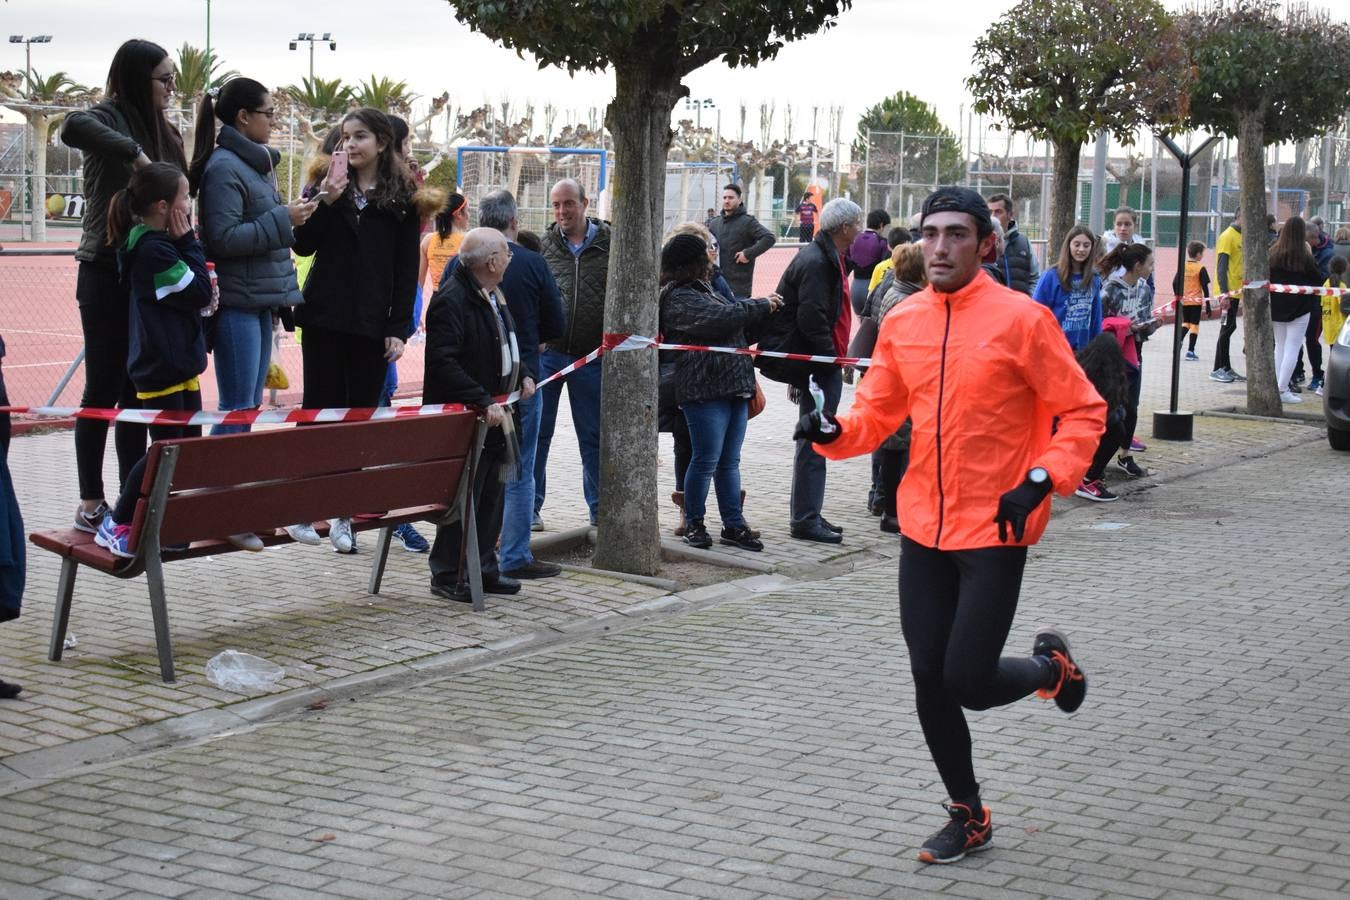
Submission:
[[[848,271],[844,258],[859,232],[863,210],[852,200],[834,198],[821,210],[819,231],[802,247],[778,282],[783,312],[770,320],[761,349],[778,349],[815,356],[844,356],[848,352],[853,309],[848,298]],[[765,376],[783,381],[798,391],[802,414],[815,409],[807,390],[814,378],[824,393],[824,409],[830,414],[840,402],[844,376],[838,366],[798,363],[763,358]],[[825,457],[809,440],[796,441],[792,456],[791,534],[803,541],[838,544],[844,529],[821,515],[825,503]]]

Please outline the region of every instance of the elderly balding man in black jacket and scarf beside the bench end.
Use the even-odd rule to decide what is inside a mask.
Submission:
[[[521,398],[535,394],[535,381],[522,371],[510,310],[498,290],[512,259],[506,237],[493,228],[475,228],[459,247],[459,266],[441,282],[427,309],[427,368],[423,401],[470,403],[483,410],[487,437],[474,476],[478,555],[483,590],[517,594],[520,582],[497,568],[497,536],[502,528],[502,468],[516,463],[514,412],[494,397],[520,387]],[[460,586],[459,548],[463,525],[440,525],[431,548],[431,592],[467,603]]]

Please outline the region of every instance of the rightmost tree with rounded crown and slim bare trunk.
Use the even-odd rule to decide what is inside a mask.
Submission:
[[[1227,0],[1192,9],[1177,30],[1191,66],[1191,120],[1238,139],[1242,277],[1265,281],[1265,147],[1322,134],[1341,120],[1350,94],[1350,27],[1304,7]],[[1247,409],[1280,414],[1270,293],[1242,291]]]

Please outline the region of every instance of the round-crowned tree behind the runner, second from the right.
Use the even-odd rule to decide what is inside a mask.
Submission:
[[[1022,0],[975,42],[975,111],[1054,146],[1050,247],[1073,227],[1083,144],[1179,115],[1187,81],[1157,0]],[[1100,228],[1103,223],[1089,223]]]

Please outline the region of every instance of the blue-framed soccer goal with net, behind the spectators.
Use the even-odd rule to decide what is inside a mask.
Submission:
[[[468,208],[494,190],[516,197],[520,227],[543,233],[554,221],[548,192],[575,178],[590,200],[590,215],[608,217],[609,151],[595,147],[459,147],[455,184]],[[475,219],[475,215],[470,215]]]

